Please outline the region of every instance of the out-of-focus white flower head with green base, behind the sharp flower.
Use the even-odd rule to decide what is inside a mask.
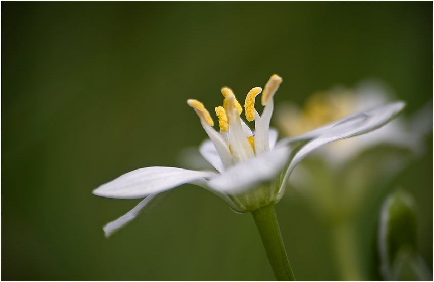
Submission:
[[[282,104],[277,124],[286,136],[312,130],[353,112],[366,111],[393,99],[385,83],[367,80],[354,90],[334,87],[314,93],[303,109]],[[424,151],[423,135],[432,130],[432,105],[412,121],[392,120],[382,130],[339,140],[315,151],[297,167],[291,184],[310,200],[321,217],[350,215],[363,206],[369,191],[381,185]],[[322,171],[318,174],[318,170]]]

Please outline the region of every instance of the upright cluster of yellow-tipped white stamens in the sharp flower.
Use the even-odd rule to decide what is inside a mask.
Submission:
[[[187,101],[199,116],[202,127],[210,137],[225,167],[246,161],[255,157],[256,154],[270,150],[268,130],[273,115],[273,96],[280,83],[282,83],[282,78],[275,74],[265,84],[263,91],[260,87],[254,87],[247,93],[244,109],[247,121],[255,120],[255,137],[249,126],[240,118],[243,108],[230,88],[221,89],[224,97],[223,106],[215,107],[220,132],[213,128],[214,122],[201,102],[194,99]],[[255,98],[261,92],[261,103],[264,105],[264,110],[259,116],[255,110]]]

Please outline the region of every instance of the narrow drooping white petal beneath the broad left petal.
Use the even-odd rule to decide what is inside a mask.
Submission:
[[[140,212],[142,212],[145,208],[149,208],[151,206],[151,202],[155,202],[159,200],[159,198],[164,197],[166,193],[153,193],[147,196],[143,201],[141,201],[137,206],[135,206],[132,210],[122,215],[118,219],[107,223],[102,229],[105,232],[105,237],[110,237],[114,232],[118,231],[126,224],[128,224],[131,220],[136,218]]]

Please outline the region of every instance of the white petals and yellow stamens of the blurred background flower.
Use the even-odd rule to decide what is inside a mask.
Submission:
[[[393,100],[392,96],[392,91],[385,83],[373,79],[365,80],[359,83],[354,91],[344,87],[334,87],[326,92],[316,92],[308,99],[303,110],[291,103],[283,104],[277,110],[277,120],[284,135],[299,135],[355,112],[386,104]],[[372,134],[340,140],[324,146],[317,150],[315,155],[324,158],[330,165],[342,166],[364,150],[378,144],[408,148],[415,154],[420,154],[423,151],[421,138],[427,128],[432,130],[432,103],[431,111],[427,111],[411,125],[406,124],[406,121],[400,117]]]

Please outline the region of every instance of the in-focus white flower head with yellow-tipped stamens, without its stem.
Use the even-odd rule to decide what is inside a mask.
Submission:
[[[282,78],[270,77],[262,93],[262,115],[254,108],[260,87],[249,91],[245,100],[246,118],[255,121],[255,132],[240,118],[242,107],[232,90],[224,87],[223,107],[215,108],[220,132],[204,105],[189,99],[208,134],[199,148],[203,157],[219,172],[192,171],[177,167],[145,167],[126,173],[93,190],[98,196],[118,199],[145,198],[133,210],[104,227],[108,237],[156,200],[162,192],[191,183],[220,196],[234,211],[251,212],[282,198],[289,175],[297,163],[320,146],[335,140],[375,130],[399,114],[404,102],[361,112],[337,123],[276,143],[277,132],[269,128],[273,96]]]

